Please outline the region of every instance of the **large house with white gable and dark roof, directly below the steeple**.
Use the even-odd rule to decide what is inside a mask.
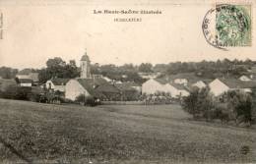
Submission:
[[[103,79],[72,79],[66,83],[66,98],[75,100],[81,94],[95,96],[101,100],[114,100],[120,91]]]

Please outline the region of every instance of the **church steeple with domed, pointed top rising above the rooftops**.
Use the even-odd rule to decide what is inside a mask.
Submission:
[[[91,78],[91,71],[90,71],[90,59],[87,55],[87,52],[85,52],[85,55],[82,56],[80,60],[80,67],[81,67],[81,79],[88,79]]]

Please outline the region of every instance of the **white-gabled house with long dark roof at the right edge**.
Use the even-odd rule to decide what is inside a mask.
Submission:
[[[235,79],[216,79],[209,83],[210,91],[214,96],[221,96],[229,90],[242,90],[251,92],[256,82],[242,82]]]

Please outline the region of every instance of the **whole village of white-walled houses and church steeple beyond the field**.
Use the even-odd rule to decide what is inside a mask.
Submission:
[[[80,75],[74,79],[51,77],[45,83],[38,82],[38,73],[32,73],[30,69],[25,69],[18,72],[15,80],[1,80],[1,84],[8,85],[8,83],[16,82],[20,87],[40,90],[40,93],[47,90],[71,101],[75,101],[79,96],[84,95],[85,97],[93,96],[95,99],[104,102],[145,102],[150,100],[152,103],[158,103],[160,99],[161,103],[168,103],[171,100],[180,101],[182,97],[188,96],[194,87],[199,89],[209,87],[211,93],[220,99],[229,90],[251,93],[256,86],[256,66],[248,70],[249,75],[242,75],[237,79],[225,77],[206,79],[191,73],[180,73],[171,76],[162,75],[158,72],[139,73],[144,80],[142,83],[121,82],[100,74],[92,74],[91,61],[87,53],[80,60],[80,68]],[[122,76],[125,77],[126,75]],[[166,100],[167,98],[169,99]]]

